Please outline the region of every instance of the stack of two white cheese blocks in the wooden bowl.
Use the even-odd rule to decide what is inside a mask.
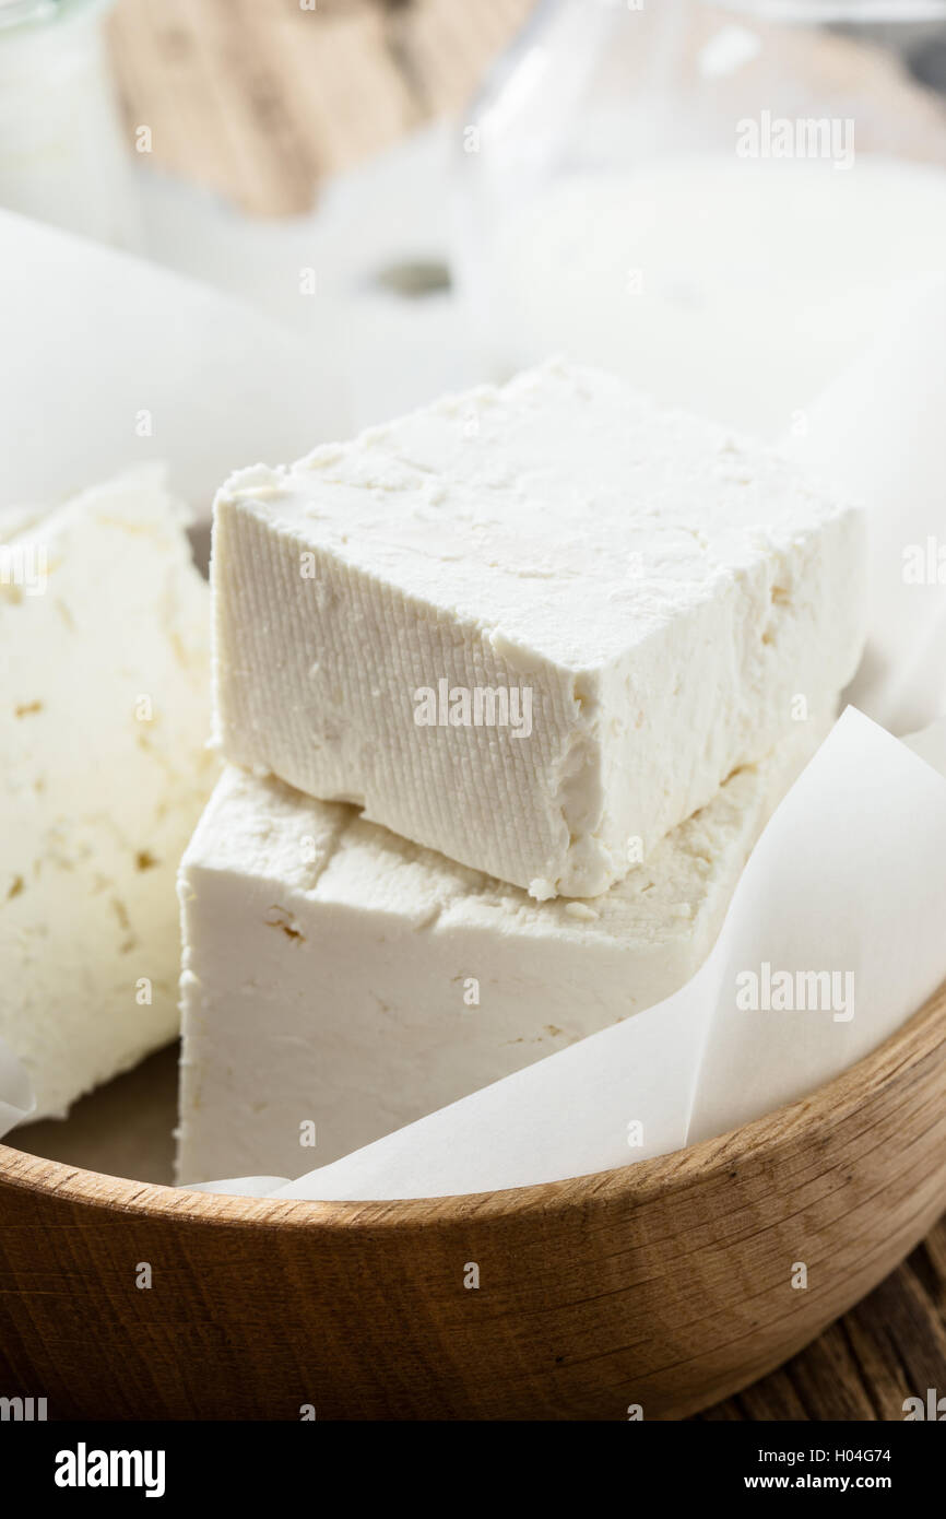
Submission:
[[[862,532],[565,365],[234,475],[181,1177],[299,1174],[686,981],[858,664]]]

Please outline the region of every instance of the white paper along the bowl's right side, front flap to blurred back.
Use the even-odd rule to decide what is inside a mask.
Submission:
[[[946,978],[946,722],[934,722],[946,711],[946,591],[905,574],[917,545],[946,545],[944,354],[937,278],[785,444],[869,510],[872,627],[853,690],[870,715],[849,708],[784,799],[702,971],[627,1022],[270,1195],[434,1197],[662,1154],[829,1082]],[[872,717],[894,732],[934,726],[908,747]],[[852,986],[853,1016],[779,1010],[785,972],[793,989],[828,975],[838,1003]],[[753,975],[774,1007],[739,1006]]]

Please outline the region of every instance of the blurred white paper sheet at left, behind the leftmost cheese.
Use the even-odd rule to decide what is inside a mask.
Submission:
[[[345,431],[326,345],[11,211],[0,243],[0,509],[162,460],[207,515],[234,465]]]

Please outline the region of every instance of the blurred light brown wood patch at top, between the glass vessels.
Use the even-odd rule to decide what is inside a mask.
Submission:
[[[125,117],[153,163],[254,216],[308,211],[319,181],[456,111],[531,0],[120,0]]]

